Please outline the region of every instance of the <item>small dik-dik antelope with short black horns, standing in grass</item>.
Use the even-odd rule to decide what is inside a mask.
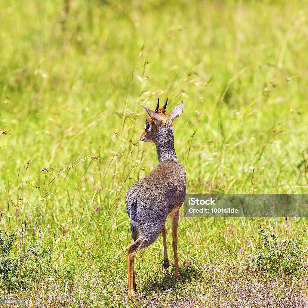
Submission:
[[[183,112],[184,103],[179,103],[166,115],[166,106],[155,111],[144,106],[148,113],[141,141],[156,145],[159,164],[150,174],[133,184],[125,196],[126,210],[132,230],[132,242],[126,248],[128,269],[128,297],[135,298],[136,280],[134,258],[142,248],[151,245],[160,233],[164,241],[164,268],[169,267],[167,255],[168,216],[171,220],[172,248],[174,253],[175,278],[180,278],[177,258],[177,225],[179,209],[186,194],[186,174],[179,164],[174,150],[172,122]]]

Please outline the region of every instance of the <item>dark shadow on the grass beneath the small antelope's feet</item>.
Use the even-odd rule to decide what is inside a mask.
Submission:
[[[174,291],[180,292],[186,283],[196,280],[202,276],[202,270],[197,265],[188,265],[180,268],[181,280],[174,278],[174,266],[170,265],[167,270],[161,269],[155,272],[149,279],[146,278],[142,287],[144,296],[151,295],[153,292]]]

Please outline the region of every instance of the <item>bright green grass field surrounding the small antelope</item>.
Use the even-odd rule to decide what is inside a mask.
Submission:
[[[308,2],[0,3],[0,298],[31,307],[306,307],[307,218],[185,218],[182,281],[135,258],[124,196],[158,163],[157,97],[188,193],[306,193]],[[169,260],[173,265],[167,221]],[[269,234],[274,233],[275,238]],[[283,240],[286,243],[283,243]]]

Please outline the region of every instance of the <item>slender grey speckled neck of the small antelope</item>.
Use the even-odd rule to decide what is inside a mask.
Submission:
[[[155,145],[159,162],[166,159],[178,161],[174,149],[172,125],[167,124],[160,128]]]

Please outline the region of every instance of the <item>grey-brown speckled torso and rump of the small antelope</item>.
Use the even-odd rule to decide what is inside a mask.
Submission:
[[[156,240],[168,215],[183,204],[185,194],[185,170],[171,159],[163,160],[133,184],[125,196],[133,239],[142,233],[149,240]]]

